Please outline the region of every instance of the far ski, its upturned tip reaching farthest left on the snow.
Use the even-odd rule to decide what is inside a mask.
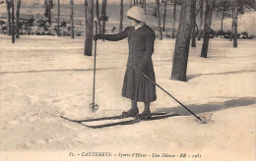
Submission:
[[[152,116],[159,116],[159,115],[166,115],[167,113],[152,113]],[[82,123],[82,122],[94,122],[94,121],[102,121],[102,120],[119,120],[119,119],[126,119],[129,117],[123,117],[123,116],[110,116],[110,117],[101,117],[101,118],[96,118],[96,119],[84,119],[84,120],[73,120],[66,118],[64,116],[60,116],[62,119],[71,121],[71,122],[76,122],[76,123]]]

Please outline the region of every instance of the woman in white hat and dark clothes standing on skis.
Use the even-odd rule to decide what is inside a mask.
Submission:
[[[143,8],[132,7],[128,10],[127,17],[131,22],[131,27],[126,27],[124,31],[116,34],[96,34],[94,39],[118,41],[128,37],[129,56],[122,96],[131,99],[132,107],[123,112],[122,116],[137,116],[139,114],[137,102],[139,101],[145,104],[144,111],[139,114],[139,118],[147,119],[151,117],[151,102],[157,99],[156,85],[146,79],[142,72],[156,82],[152,61],[156,34],[151,27],[145,24],[146,14]]]

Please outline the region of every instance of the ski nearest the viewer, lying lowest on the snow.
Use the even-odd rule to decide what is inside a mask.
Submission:
[[[88,128],[101,129],[101,128],[114,127],[114,126],[132,125],[132,124],[140,123],[142,121],[160,120],[160,119],[165,119],[165,118],[174,117],[174,116],[179,116],[179,114],[165,114],[165,115],[153,116],[148,119],[142,119],[142,120],[135,118],[134,120],[121,121],[121,122],[117,122],[117,123],[108,123],[108,124],[95,125],[95,126],[89,126],[89,125],[82,124],[83,122],[77,122],[77,123],[81,124],[82,126],[88,127]]]

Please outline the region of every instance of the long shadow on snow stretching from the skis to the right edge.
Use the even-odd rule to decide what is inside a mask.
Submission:
[[[213,103],[208,103],[203,105],[186,105],[186,104],[184,105],[195,114],[200,114],[204,112],[214,112],[214,111],[224,110],[228,108],[247,106],[252,104],[256,104],[256,97],[242,97],[242,98],[227,100],[224,102],[213,102]],[[192,115],[182,106],[177,106],[173,108],[161,108],[161,109],[158,109],[156,112],[176,113],[176,114],[180,114],[180,116]]]

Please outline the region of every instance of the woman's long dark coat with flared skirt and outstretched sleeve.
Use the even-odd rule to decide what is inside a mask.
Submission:
[[[118,41],[128,37],[129,56],[124,77],[122,96],[140,102],[152,102],[157,99],[156,85],[137,74],[132,65],[156,82],[152,54],[154,52],[155,31],[144,25],[138,29],[126,27],[117,34],[106,34],[106,40]]]

